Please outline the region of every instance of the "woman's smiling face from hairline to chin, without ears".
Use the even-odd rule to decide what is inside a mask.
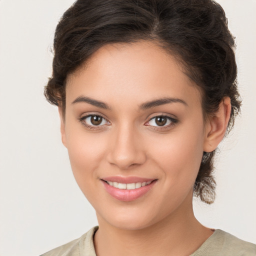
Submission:
[[[62,141],[98,219],[140,229],[192,209],[200,92],[152,42],[108,44],[67,78]]]

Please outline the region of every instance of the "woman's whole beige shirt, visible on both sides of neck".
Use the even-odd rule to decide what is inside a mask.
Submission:
[[[41,256],[96,256],[93,235],[97,229],[98,227],[95,226],[80,238]],[[190,256],[256,256],[256,244],[243,241],[225,231],[216,229]]]

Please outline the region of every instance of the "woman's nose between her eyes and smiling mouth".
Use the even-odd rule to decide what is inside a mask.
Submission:
[[[109,142],[107,160],[120,169],[129,169],[131,166],[141,165],[146,160],[141,136],[130,125],[122,125],[113,130]]]

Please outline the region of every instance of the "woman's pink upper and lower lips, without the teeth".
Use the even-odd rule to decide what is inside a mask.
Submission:
[[[111,176],[111,177],[104,177],[101,179],[102,184],[106,191],[113,196],[114,198],[121,200],[121,201],[133,201],[142,195],[146,194],[155,184],[156,180],[149,179],[149,178],[141,178],[141,177],[120,177],[120,176]],[[118,182],[118,183],[136,183],[136,182],[148,182],[152,181],[150,184],[141,186],[135,189],[120,189],[113,187],[106,183],[106,181]]]

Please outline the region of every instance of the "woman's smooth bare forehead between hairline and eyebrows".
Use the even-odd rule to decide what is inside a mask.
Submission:
[[[200,93],[180,63],[149,41],[107,44],[68,75],[66,101],[80,95],[138,104],[153,97],[200,101]]]

